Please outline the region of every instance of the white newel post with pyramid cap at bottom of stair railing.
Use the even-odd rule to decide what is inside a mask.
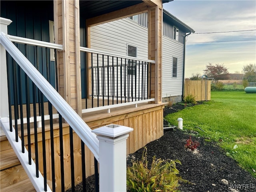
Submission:
[[[115,124],[92,130],[100,141],[100,192],[126,192],[126,139],[131,131]]]

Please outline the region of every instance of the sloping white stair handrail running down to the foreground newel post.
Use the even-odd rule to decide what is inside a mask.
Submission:
[[[30,61],[18,50],[18,48],[11,42],[8,36],[1,32],[0,43],[20,65],[24,72],[36,84],[40,91],[53,104],[53,106],[60,112],[68,124],[80,136],[82,141],[92,151],[95,158],[99,160],[99,141],[96,135],[92,133],[90,127],[82,120],[82,118],[72,109],[72,107],[58,94],[58,92],[51,86],[51,84],[36,70]]]

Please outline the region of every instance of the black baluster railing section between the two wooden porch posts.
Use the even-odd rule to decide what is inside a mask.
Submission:
[[[81,56],[84,108],[150,99],[151,62],[93,52],[81,52]]]

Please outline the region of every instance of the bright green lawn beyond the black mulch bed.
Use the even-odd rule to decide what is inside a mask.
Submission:
[[[169,114],[165,119],[178,125],[179,117],[183,118],[183,129],[195,130],[207,140],[218,142],[228,156],[256,178],[256,94],[211,92],[210,101]]]

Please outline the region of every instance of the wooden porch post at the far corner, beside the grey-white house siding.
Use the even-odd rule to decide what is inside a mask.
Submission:
[[[151,66],[149,94],[159,104],[162,102],[162,4],[148,9],[148,59],[156,62]]]

